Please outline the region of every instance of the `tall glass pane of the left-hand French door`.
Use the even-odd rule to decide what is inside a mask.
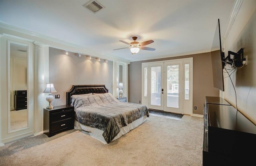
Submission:
[[[151,67],[151,105],[161,105],[161,66]]]

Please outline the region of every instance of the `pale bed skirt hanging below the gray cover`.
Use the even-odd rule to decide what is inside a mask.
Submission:
[[[137,119],[137,120],[133,121],[132,123],[128,124],[128,126],[122,127],[120,132],[118,132],[118,134],[114,137],[113,140],[116,140],[116,139],[120,138],[122,135],[126,134],[130,130],[138,127],[140,124],[144,123],[147,119],[148,119],[148,117],[145,115],[144,117],[141,117],[140,119]],[[102,130],[99,130],[97,128],[92,128],[92,127],[89,127],[89,126],[85,126],[85,125],[79,123],[76,120],[74,122],[74,128],[77,129],[77,130],[87,131],[87,132],[89,132],[90,136],[92,136],[93,138],[99,140],[103,144],[107,144],[106,140],[102,136],[102,134],[104,132]]]

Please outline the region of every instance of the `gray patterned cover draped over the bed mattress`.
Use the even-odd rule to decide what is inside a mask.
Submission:
[[[76,120],[93,128],[103,130],[102,136],[111,142],[123,126],[147,115],[145,105],[118,101],[111,93],[72,96]]]

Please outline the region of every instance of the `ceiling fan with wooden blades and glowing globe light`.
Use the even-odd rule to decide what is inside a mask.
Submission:
[[[134,41],[132,41],[130,43],[128,43],[126,41],[122,41],[122,40],[119,40],[119,41],[121,41],[122,43],[130,45],[130,47],[125,47],[125,48],[130,48],[130,51],[132,52],[132,54],[138,53],[140,51],[140,49],[144,49],[144,50],[148,50],[148,51],[156,50],[154,48],[144,47],[144,45],[148,45],[150,43],[153,43],[154,40],[147,40],[147,41],[143,41],[143,42],[140,43],[140,42],[136,41],[137,40],[136,36],[132,37],[132,40],[134,40]],[[118,49],[125,49],[125,48],[118,48]],[[113,49],[113,50],[117,50],[117,49]]]

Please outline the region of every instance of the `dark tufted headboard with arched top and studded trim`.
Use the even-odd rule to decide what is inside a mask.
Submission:
[[[72,88],[67,91],[67,105],[71,104],[72,95],[81,95],[86,93],[107,93],[108,89],[105,85],[73,85]]]

